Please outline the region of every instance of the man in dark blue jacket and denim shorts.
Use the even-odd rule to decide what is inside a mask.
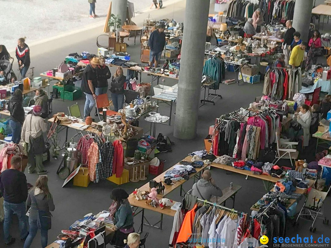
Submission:
[[[151,49],[149,54],[149,66],[151,67],[153,66],[153,62],[154,67],[158,67],[162,51],[166,45],[166,35],[164,33],[165,25],[160,24],[156,28],[157,29],[151,33],[148,40],[148,46]]]

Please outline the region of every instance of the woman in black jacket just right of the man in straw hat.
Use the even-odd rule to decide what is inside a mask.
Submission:
[[[112,76],[109,67],[105,65],[105,57],[99,56],[100,65],[98,65],[95,70],[97,74],[97,88],[95,88],[95,94],[97,96],[102,94],[107,94],[108,91],[108,79]],[[98,116],[98,112],[101,109],[95,109],[95,116]]]

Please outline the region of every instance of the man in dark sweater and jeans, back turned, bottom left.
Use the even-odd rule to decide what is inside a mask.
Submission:
[[[21,164],[22,158],[14,155],[11,159],[11,168],[0,175],[0,191],[4,198],[5,220],[3,222],[3,232],[6,245],[11,245],[15,242],[15,238],[10,235],[10,224],[13,214],[16,214],[19,219],[21,240],[24,241],[28,235],[25,216],[27,183],[24,173],[20,171]]]

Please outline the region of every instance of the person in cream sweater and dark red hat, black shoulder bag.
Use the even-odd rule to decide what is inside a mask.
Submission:
[[[40,115],[41,106],[35,105],[32,113],[26,116],[22,127],[21,136],[26,143],[28,152],[28,173],[34,173],[35,169],[38,174],[47,173],[42,164],[42,153],[45,150],[42,133],[47,131],[48,125]]]

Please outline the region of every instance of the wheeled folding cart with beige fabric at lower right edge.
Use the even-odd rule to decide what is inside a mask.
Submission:
[[[305,204],[303,205],[302,209],[300,210],[300,213],[297,217],[297,220],[294,223],[294,226],[299,225],[298,220],[299,218],[306,219],[308,221],[312,221],[311,227],[309,228],[309,231],[315,232],[316,227],[314,226],[314,223],[316,219],[323,219],[323,224],[328,225],[329,220],[327,220],[324,217],[323,214],[323,202],[329,193],[331,188],[331,185],[329,186],[328,191],[323,192],[319,191],[317,189],[311,188],[310,192],[308,193],[308,196],[305,200]]]

